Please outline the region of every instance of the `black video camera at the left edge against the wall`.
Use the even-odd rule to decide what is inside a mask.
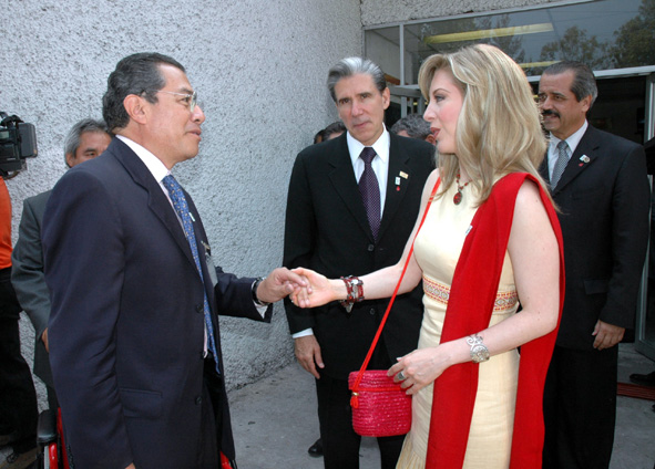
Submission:
[[[27,168],[25,158],[37,156],[37,131],[33,124],[0,111],[0,174],[16,176]]]

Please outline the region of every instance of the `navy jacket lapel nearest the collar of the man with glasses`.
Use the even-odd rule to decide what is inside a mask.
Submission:
[[[130,174],[134,183],[143,187],[147,194],[147,206],[155,213],[155,216],[162,221],[164,227],[168,230],[184,256],[195,267],[195,261],[191,252],[188,241],[184,236],[180,220],[175,215],[175,210],[171,206],[171,202],[164,195],[162,187],[152,176],[152,173],[143,164],[141,158],[136,156],[132,148],[121,142],[119,138],[112,140],[112,146],[116,146],[114,155],[119,161],[123,165],[125,170]],[[194,226],[195,229],[195,226]]]

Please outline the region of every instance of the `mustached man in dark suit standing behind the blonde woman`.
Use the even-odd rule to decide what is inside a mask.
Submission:
[[[566,296],[544,390],[544,468],[607,468],[616,415],[617,344],[634,326],[648,239],[641,145],[592,127],[597,95],[577,62],[547,67],[539,103],[550,146],[542,175],[560,208]]]

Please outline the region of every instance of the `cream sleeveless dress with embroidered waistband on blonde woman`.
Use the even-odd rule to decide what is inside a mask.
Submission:
[[[419,348],[439,344],[448,306],[452,275],[463,247],[467,230],[477,208],[475,187],[462,190],[462,201],[452,201],[457,187],[430,207],[415,243],[416,259],[423,271],[424,315]],[[505,253],[499,291],[490,325],[510,317],[519,308],[514,274]],[[449,314],[457,314],[450,312]],[[510,465],[514,403],[519,374],[516,350],[492,356],[480,364],[478,395],[467,446],[464,468],[501,469]],[[411,431],[405,439],[397,468],[423,469],[430,430],[432,388],[427,386],[413,396]],[[446,404],[448,405],[448,404]]]

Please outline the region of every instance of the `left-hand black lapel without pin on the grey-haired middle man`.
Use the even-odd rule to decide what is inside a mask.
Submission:
[[[346,207],[348,207],[352,217],[357,220],[358,225],[367,233],[369,239],[373,241],[373,236],[366,216],[366,209],[361,201],[361,194],[357,186],[355,170],[352,169],[352,160],[350,159],[350,154],[348,152],[346,134],[344,133],[344,135],[338,138],[339,148],[329,160],[329,164],[332,167],[332,170],[329,173],[330,181],[339,197],[344,200]]]

